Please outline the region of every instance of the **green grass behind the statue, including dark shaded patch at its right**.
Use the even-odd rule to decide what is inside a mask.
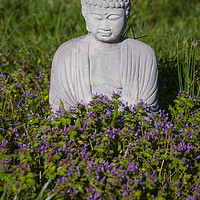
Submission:
[[[149,44],[155,50],[159,62],[160,106],[167,108],[179,89],[186,89],[181,87],[180,78],[178,80],[178,63],[185,62],[183,58],[185,41],[188,44],[192,44],[194,40],[199,42],[200,2],[198,0],[131,2],[134,7],[126,35]],[[16,70],[19,68],[15,63],[16,60],[26,60],[29,55],[35,59],[36,64],[50,68],[49,63],[46,64],[46,52],[52,51],[54,54],[63,42],[86,33],[78,0],[2,0],[0,64],[7,63],[10,66],[2,70],[8,73]],[[6,48],[10,51],[8,56],[5,53]],[[197,69],[200,60],[199,45],[196,45],[194,50],[196,56],[192,59],[195,60]],[[183,60],[177,62],[177,59]],[[198,72],[195,74],[197,80]],[[199,87],[197,82],[195,91]]]

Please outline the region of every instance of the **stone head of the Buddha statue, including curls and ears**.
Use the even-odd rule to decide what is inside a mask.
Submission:
[[[98,41],[115,43],[129,18],[130,0],[81,0],[87,30]]]

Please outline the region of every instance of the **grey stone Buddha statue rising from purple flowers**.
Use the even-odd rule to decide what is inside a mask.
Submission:
[[[49,101],[53,111],[77,101],[89,103],[92,93],[121,91],[130,104],[145,101],[155,118],[157,60],[147,44],[122,36],[129,18],[129,0],[82,0],[88,34],[62,44],[54,55]]]

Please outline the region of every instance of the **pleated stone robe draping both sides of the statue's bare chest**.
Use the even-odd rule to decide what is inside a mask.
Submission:
[[[65,109],[69,109],[81,100],[85,103],[91,100],[93,86],[90,45],[91,35],[87,34],[65,42],[56,51],[49,94],[50,106],[54,112],[59,110],[60,101]],[[149,105],[152,118],[155,118],[158,109],[158,69],[155,52],[147,44],[129,38],[120,42],[120,46],[121,99],[129,105],[143,100]]]

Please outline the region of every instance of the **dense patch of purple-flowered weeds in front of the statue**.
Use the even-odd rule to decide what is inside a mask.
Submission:
[[[0,191],[35,199],[198,199],[200,99],[181,92],[152,121],[120,94],[93,95],[56,116],[49,72],[0,75]],[[37,74],[35,76],[35,74]],[[25,78],[24,78],[25,77]]]

